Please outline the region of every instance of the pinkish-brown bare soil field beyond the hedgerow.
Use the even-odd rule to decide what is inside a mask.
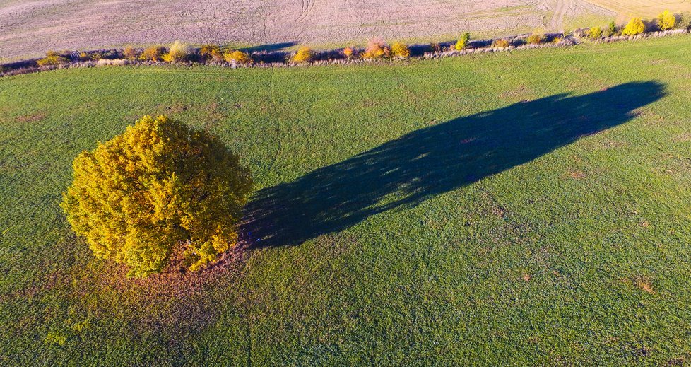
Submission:
[[[174,40],[345,45],[560,30],[613,11],[584,0],[0,0],[0,58]]]

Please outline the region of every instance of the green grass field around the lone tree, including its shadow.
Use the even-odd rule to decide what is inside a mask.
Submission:
[[[0,364],[691,361],[691,37],[0,79]],[[141,115],[210,129],[249,250],[127,279],[59,208]]]

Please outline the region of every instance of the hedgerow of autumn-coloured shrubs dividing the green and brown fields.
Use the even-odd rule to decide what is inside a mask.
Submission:
[[[671,30],[678,29],[676,32]],[[614,21],[608,27],[593,27],[575,30],[573,33],[545,34],[536,30],[529,35],[505,37],[495,40],[471,40],[469,33],[463,33],[458,40],[430,45],[408,46],[401,42],[388,45],[382,38],[374,38],[364,49],[346,47],[329,51],[315,51],[307,46],[297,52],[244,52],[239,49],[221,49],[218,45],[202,45],[193,48],[175,41],[170,47],[151,46],[145,49],[124,47],[91,52],[49,51],[41,59],[0,65],[0,76],[24,74],[25,72],[49,70],[67,66],[119,66],[126,64],[158,63],[202,63],[231,67],[264,66],[277,64],[343,64],[344,62],[370,62],[383,59],[407,59],[408,57],[450,56],[476,52],[492,52],[505,49],[527,49],[534,47],[556,47],[573,45],[575,38],[587,38],[593,42],[613,42],[636,37],[659,37],[685,32],[691,28],[691,13],[672,14],[664,11],[654,21],[644,22],[632,18],[625,25]],[[545,46],[546,45],[546,46]]]

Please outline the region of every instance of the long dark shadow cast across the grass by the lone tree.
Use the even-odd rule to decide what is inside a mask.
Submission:
[[[411,132],[341,163],[254,194],[244,233],[253,247],[299,245],[373,214],[532,161],[627,122],[664,95],[654,81],[559,94]]]

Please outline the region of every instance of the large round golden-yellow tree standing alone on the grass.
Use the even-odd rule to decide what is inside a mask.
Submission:
[[[252,187],[249,169],[217,136],[145,116],[83,151],[61,203],[96,257],[130,276],[160,272],[173,257],[194,271],[237,242]]]

